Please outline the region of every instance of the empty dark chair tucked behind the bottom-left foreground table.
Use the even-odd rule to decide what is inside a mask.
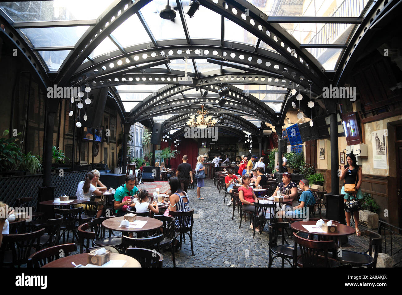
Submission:
[[[53,260],[68,256],[69,252],[77,250],[75,243],[51,246],[33,253],[28,258],[27,267],[43,267]]]

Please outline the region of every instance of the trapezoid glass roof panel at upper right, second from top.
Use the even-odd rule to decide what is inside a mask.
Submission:
[[[346,44],[353,24],[281,23],[301,44]]]

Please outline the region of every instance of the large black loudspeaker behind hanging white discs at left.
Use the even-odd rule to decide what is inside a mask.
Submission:
[[[84,108],[80,112],[80,122],[83,127],[100,129],[108,93],[109,87],[94,89],[89,92],[88,97],[91,100],[91,104],[86,107],[86,116],[88,117],[86,121],[83,118],[85,114],[85,102],[83,102]],[[86,95],[82,99],[85,101]]]

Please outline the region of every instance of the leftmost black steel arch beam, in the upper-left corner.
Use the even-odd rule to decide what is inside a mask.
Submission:
[[[39,53],[32,51],[29,41],[18,33],[9,22],[8,17],[4,17],[2,13],[0,10],[0,23],[4,24],[4,30],[0,29],[0,38],[8,43],[12,49],[17,50],[17,58],[29,65],[30,71],[36,77],[39,87],[43,93],[46,93],[47,87],[51,86],[47,75],[47,66],[39,57]]]

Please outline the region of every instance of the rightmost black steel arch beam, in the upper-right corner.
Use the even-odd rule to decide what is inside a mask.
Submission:
[[[370,28],[371,24],[379,20],[398,1],[400,2],[400,0],[377,0],[372,2],[371,6],[367,9],[363,22],[355,28],[352,38],[338,62],[338,68],[333,79],[335,86],[342,87],[345,84],[357,59],[365,51],[371,37],[376,33],[375,30]]]

